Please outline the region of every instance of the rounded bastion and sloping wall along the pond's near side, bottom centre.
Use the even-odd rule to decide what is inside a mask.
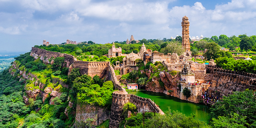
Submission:
[[[154,102],[148,98],[128,94],[126,91],[114,91],[112,95],[109,128],[119,128],[120,122],[124,120],[124,117],[121,116],[123,106],[127,102],[135,104],[139,112],[156,111],[157,113],[164,114],[163,111],[159,107],[156,107]]]

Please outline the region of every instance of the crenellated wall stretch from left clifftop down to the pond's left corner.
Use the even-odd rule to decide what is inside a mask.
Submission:
[[[35,57],[36,59],[40,57],[40,59],[46,63],[50,63],[49,59],[52,57],[65,57],[64,62],[66,62],[66,67],[70,68],[69,71],[71,71],[71,68],[79,68],[81,74],[88,74],[91,77],[95,76],[96,74],[100,76],[100,78],[109,75],[109,80],[113,81],[114,86],[118,90],[125,90],[116,79],[114,68],[110,65],[110,62],[77,61],[76,58],[72,55],[60,52],[46,51],[37,47],[32,47],[30,55]]]

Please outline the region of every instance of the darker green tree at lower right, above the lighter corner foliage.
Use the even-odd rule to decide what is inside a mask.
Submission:
[[[235,91],[233,94],[223,96],[221,102],[214,104],[210,108],[210,117],[217,119],[218,116],[232,118],[232,115],[246,116],[247,123],[252,124],[256,119],[255,91],[246,89],[245,91]]]

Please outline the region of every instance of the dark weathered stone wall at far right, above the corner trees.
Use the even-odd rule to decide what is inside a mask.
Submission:
[[[239,71],[224,70],[216,66],[207,66],[207,72],[212,73],[212,84],[208,88],[208,94],[222,97],[233,91],[255,89],[256,74]]]

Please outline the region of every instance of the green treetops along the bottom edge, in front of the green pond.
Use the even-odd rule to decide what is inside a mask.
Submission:
[[[127,128],[143,128],[142,114],[126,118]],[[165,115],[145,113],[146,128],[210,128],[205,122],[194,119],[193,116],[173,111],[165,112]]]

